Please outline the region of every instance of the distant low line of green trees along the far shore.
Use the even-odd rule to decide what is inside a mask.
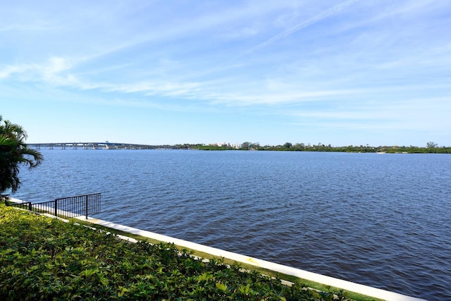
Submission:
[[[323,145],[319,142],[317,145],[286,142],[283,145],[260,145],[259,142],[243,142],[240,146],[232,145],[202,145],[202,144],[184,144],[176,145],[178,149],[201,149],[201,150],[257,150],[257,151],[290,151],[290,152],[385,152],[388,154],[451,154],[451,147],[438,147],[435,142],[428,142],[426,147],[406,146],[370,146],[370,145],[348,145],[345,147],[333,147],[332,145]]]

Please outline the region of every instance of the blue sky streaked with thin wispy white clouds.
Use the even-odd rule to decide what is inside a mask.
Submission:
[[[451,145],[451,1],[3,1],[27,142]]]

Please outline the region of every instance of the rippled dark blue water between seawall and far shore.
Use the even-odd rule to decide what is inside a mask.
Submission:
[[[42,149],[20,199],[102,193],[99,219],[450,300],[451,156]]]

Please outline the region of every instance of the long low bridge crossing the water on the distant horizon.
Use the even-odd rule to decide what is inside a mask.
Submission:
[[[132,143],[114,142],[49,142],[27,143],[28,147],[41,149],[175,149],[171,145],[137,145]]]

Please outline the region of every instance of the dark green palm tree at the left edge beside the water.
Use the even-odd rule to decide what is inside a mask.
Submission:
[[[8,189],[18,190],[20,165],[33,168],[43,159],[41,153],[27,147],[27,133],[20,125],[1,121],[0,115],[0,194]]]

